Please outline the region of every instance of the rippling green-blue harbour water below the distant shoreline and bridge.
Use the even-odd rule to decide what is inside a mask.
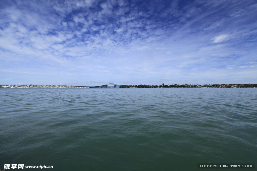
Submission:
[[[0,96],[0,169],[257,163],[257,89],[1,88]]]

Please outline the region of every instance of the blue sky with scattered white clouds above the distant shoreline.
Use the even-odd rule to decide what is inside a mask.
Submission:
[[[1,0],[0,84],[257,84],[256,0]]]

